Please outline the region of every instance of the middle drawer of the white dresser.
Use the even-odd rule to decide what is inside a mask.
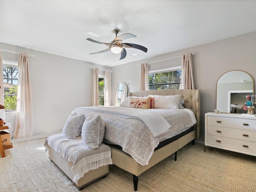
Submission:
[[[256,142],[256,131],[250,131],[250,130],[207,126],[207,134]]]

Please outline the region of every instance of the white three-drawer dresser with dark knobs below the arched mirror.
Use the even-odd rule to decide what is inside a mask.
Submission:
[[[204,151],[206,146],[256,156],[256,117],[206,113]]]

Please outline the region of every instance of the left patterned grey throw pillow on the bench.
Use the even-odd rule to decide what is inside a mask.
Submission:
[[[85,120],[84,115],[69,116],[66,121],[62,133],[70,139],[75,139],[80,136],[82,126]]]

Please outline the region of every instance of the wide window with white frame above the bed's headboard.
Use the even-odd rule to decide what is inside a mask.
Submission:
[[[179,89],[181,66],[150,70],[148,72],[149,90]]]

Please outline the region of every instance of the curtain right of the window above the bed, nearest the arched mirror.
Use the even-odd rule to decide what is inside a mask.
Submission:
[[[192,54],[182,55],[180,89],[194,89]]]

